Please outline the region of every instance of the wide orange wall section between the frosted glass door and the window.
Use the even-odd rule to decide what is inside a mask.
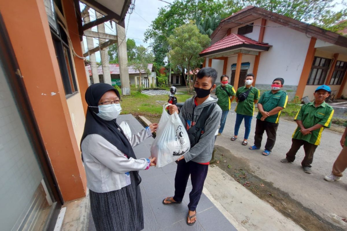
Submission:
[[[46,153],[64,201],[85,196],[78,143],[42,0],[0,1]],[[56,93],[55,95],[51,92]],[[45,95],[44,95],[45,94]]]

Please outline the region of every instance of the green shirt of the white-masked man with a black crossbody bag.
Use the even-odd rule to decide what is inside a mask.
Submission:
[[[248,89],[249,88],[246,88],[246,86],[240,87],[236,91],[236,97],[239,94],[241,94],[242,92],[247,91]],[[257,100],[259,98],[260,98],[260,91],[257,88],[252,87],[252,89],[249,91],[247,98],[242,102],[240,102],[240,101],[237,102],[235,112],[237,114],[241,114],[241,115],[253,116],[253,114],[254,114],[254,100]]]

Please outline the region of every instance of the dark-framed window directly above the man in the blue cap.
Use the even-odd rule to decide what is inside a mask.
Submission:
[[[316,60],[320,59],[318,66],[314,65],[316,63]],[[322,60],[325,60],[324,66],[321,66]],[[311,71],[310,74],[308,75],[307,83],[306,85],[323,85],[325,79],[327,78],[329,67],[330,67],[331,59],[325,58],[325,57],[320,57],[320,56],[314,56],[312,66],[311,66]],[[316,71],[315,71],[316,70]],[[321,71],[319,71],[321,70]],[[314,72],[315,71],[315,72]],[[312,78],[312,74],[314,73],[314,78]],[[317,74],[319,73],[319,78],[317,78]],[[313,79],[312,83],[310,84],[311,80]],[[315,84],[316,80],[318,79],[318,82]]]

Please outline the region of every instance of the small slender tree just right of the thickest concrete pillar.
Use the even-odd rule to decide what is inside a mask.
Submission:
[[[135,49],[134,59],[128,62],[128,66],[134,66],[134,69],[139,72],[139,87],[141,88],[141,72],[146,72],[147,75],[151,74],[148,69],[148,64],[153,62],[153,55],[147,52],[147,49],[140,45]]]

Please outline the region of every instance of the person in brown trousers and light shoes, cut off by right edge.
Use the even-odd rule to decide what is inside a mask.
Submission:
[[[341,180],[342,172],[347,168],[347,121],[344,123],[345,132],[342,134],[340,145],[342,150],[332,166],[331,174],[324,177],[326,181]]]

